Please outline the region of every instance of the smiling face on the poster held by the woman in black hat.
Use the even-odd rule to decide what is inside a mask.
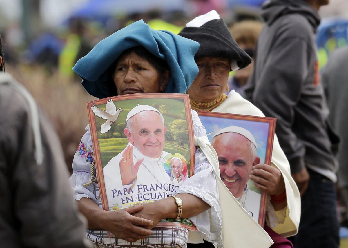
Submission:
[[[243,135],[232,132],[212,140],[219,157],[221,180],[236,198],[242,196],[253,165],[260,163],[260,158],[252,154],[251,144]]]

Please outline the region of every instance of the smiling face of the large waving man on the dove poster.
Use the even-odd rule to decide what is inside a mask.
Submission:
[[[129,129],[124,129],[129,142],[144,156],[158,158],[164,148],[166,127],[159,113],[152,110],[141,111],[132,116]]]

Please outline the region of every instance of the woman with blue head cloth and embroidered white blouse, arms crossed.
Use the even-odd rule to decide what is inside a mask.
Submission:
[[[171,32],[152,30],[138,21],[100,41],[73,70],[82,78],[87,92],[97,98],[132,93],[185,93],[198,73],[194,61],[198,46],[195,41]],[[195,111],[192,118],[197,139],[206,137]],[[81,147],[86,148],[84,154],[79,152]],[[181,243],[176,245],[186,246],[188,230],[175,227],[174,232],[170,228],[153,228],[160,219],[176,218],[178,207],[173,197],[117,211],[103,210],[98,183],[88,183],[92,157],[87,126],[74,156],[70,180],[80,211],[88,219],[90,229],[86,237],[90,241],[98,247],[154,247],[153,244],[176,247],[172,240],[181,237]],[[207,183],[202,184],[201,178]],[[181,217],[190,218],[198,229],[199,235],[195,233],[193,242],[201,242],[200,247],[211,247],[204,238],[222,247],[218,188],[213,166],[201,149],[195,154],[195,175],[185,180],[175,195],[183,202]],[[117,238],[107,238],[106,231]],[[190,233],[190,240],[191,237]]]

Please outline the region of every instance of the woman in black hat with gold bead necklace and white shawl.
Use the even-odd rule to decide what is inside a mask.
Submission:
[[[200,45],[195,55],[199,68],[198,76],[187,91],[192,109],[264,116],[258,108],[234,90],[228,96],[224,94],[229,72],[246,67],[250,64],[251,58],[238,47],[216,11],[196,17],[186,24],[179,35],[195,40]],[[278,234],[285,237],[294,235],[300,222],[300,194],[290,175],[289,163],[276,135],[272,165],[256,165],[251,173],[255,186],[271,195],[267,201],[267,231],[274,235],[273,237],[277,237]],[[282,192],[279,192],[279,189],[283,189]],[[284,242],[288,241],[284,239]]]

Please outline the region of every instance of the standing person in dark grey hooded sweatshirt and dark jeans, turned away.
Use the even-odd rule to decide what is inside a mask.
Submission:
[[[271,0],[256,47],[254,72],[246,96],[268,117],[302,196],[294,247],[338,247],[336,210],[338,137],[327,124],[328,110],[319,84],[315,32],[318,9],[328,0]]]

